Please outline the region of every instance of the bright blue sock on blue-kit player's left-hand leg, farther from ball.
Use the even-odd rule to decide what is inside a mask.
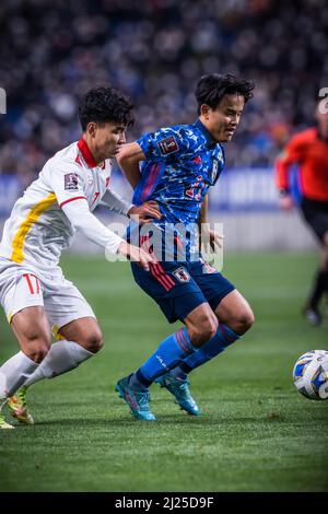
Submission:
[[[145,390],[157,376],[167,373],[195,352],[186,327],[168,336],[130,378],[131,387]]]

